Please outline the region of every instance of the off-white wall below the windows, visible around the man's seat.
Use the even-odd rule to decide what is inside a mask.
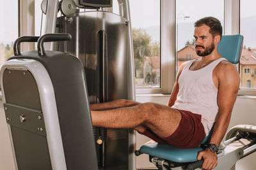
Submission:
[[[145,103],[153,102],[159,104],[167,104],[169,100],[168,95],[156,95],[156,96],[136,96],[136,101]],[[234,110],[230,120],[230,125],[228,129],[234,125],[239,124],[251,124],[256,125],[256,97],[249,96],[239,96],[237,97],[236,103],[234,105]],[[136,134],[136,149],[138,150],[143,143],[150,140],[149,138]],[[255,170],[256,167],[256,153],[252,153],[248,157],[241,159],[236,164],[237,170]],[[150,168],[154,167],[154,164],[148,161],[147,155],[140,155],[136,157],[136,167],[137,168]]]

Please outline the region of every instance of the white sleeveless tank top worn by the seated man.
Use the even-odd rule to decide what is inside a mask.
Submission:
[[[172,106],[172,108],[178,110],[186,110],[202,115],[201,122],[204,125],[206,136],[209,134],[218,113],[218,89],[212,80],[212,71],[221,60],[226,59],[214,60],[207,66],[195,71],[189,70],[194,60],[189,61],[180,74],[178,80],[179,93],[175,104]]]

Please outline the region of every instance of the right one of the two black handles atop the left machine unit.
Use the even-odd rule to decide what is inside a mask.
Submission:
[[[38,55],[45,55],[44,43],[50,41],[69,41],[71,39],[70,34],[44,34],[38,39],[37,50]]]

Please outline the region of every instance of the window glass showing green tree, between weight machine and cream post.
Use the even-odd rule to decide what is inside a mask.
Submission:
[[[160,87],[160,0],[131,0],[136,88]],[[117,1],[113,12],[119,13]]]

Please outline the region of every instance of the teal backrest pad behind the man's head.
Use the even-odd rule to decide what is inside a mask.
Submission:
[[[243,48],[243,36],[241,35],[228,35],[222,36],[218,44],[218,52],[222,57],[237,64]]]

